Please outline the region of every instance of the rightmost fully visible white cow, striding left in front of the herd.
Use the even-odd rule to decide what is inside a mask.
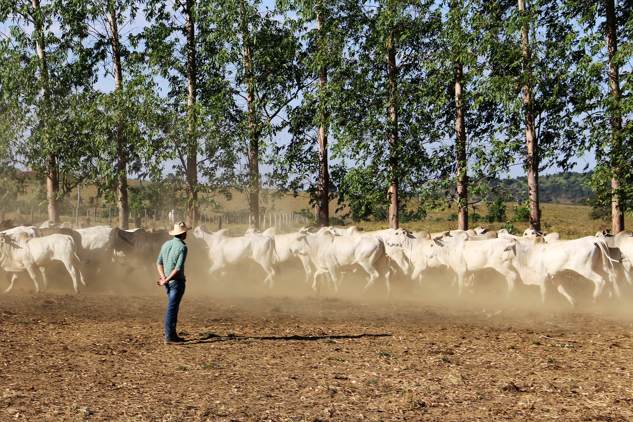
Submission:
[[[509,239],[511,244],[505,250],[511,251],[513,266],[517,268],[523,283],[537,285],[541,289],[541,300],[545,301],[546,283],[555,282],[555,276],[574,272],[594,283],[593,299],[598,300],[606,283],[615,283],[613,259],[605,242],[597,237],[555,242],[548,244],[542,237],[532,237],[526,242]],[[614,285],[617,289],[617,286]],[[558,292],[572,304],[575,300],[563,285]]]

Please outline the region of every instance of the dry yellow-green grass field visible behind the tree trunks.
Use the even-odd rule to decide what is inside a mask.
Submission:
[[[128,180],[130,185],[139,185],[139,180]],[[33,185],[30,185],[27,188],[27,195],[20,197],[20,199],[28,200],[32,199],[35,196],[33,192]],[[81,195],[82,195],[82,206],[88,207],[89,200],[91,197],[96,197],[97,191],[94,186],[82,187]],[[230,212],[230,213],[242,213],[248,211],[248,202],[246,201],[246,197],[244,194],[234,191],[232,195],[232,199],[229,201],[225,199],[223,196],[215,197],[218,204],[220,204],[220,211]],[[72,204],[77,203],[77,192],[76,190],[71,192],[69,195],[69,200]],[[282,213],[301,213],[302,210],[309,210],[310,213],[314,213],[314,207],[310,204],[310,198],[306,194],[306,192],[299,192],[298,196],[294,197],[293,195],[283,195],[282,197],[273,198],[273,191],[264,191],[261,194],[260,206],[266,209],[266,214],[270,216],[270,214],[282,214]],[[515,204],[508,203],[506,206],[507,218],[510,220],[515,214],[512,209]],[[342,211],[341,213],[335,213],[335,209],[337,209],[336,203],[333,201],[330,203],[330,216],[342,216],[346,211]],[[30,223],[30,209],[22,209],[21,213],[18,214],[17,211],[9,212],[5,214],[5,218],[15,219],[16,223]],[[455,208],[444,209],[439,211],[432,211],[427,214],[424,221],[405,221],[401,223],[401,227],[408,228],[410,230],[429,230],[429,232],[440,232],[442,230],[454,229],[457,227],[456,221],[447,221],[449,215],[456,211]],[[469,210],[472,213],[472,208]],[[484,216],[487,214],[487,208],[485,205],[480,205],[476,207],[476,211],[478,214]],[[573,238],[585,235],[593,235],[598,232],[598,230],[602,230],[603,228],[610,227],[610,221],[604,220],[591,220],[589,218],[589,211],[591,211],[591,207],[579,205],[579,204],[554,204],[554,203],[546,203],[541,204],[541,212],[542,212],[542,225],[544,230],[548,232],[559,232],[563,237]],[[33,223],[38,224],[42,221],[46,220],[46,210],[44,208],[40,209],[40,213],[38,215],[38,210],[34,209],[34,217]],[[97,208],[97,213],[101,212],[103,218],[97,218],[97,224],[108,224],[108,208]],[[140,211],[139,211],[140,212]],[[168,210],[165,210],[165,218]],[[206,212],[206,209],[203,208],[202,212]],[[213,211],[208,211],[208,215],[212,215]],[[92,211],[90,212],[90,218],[92,222]],[[158,216],[161,215],[161,211],[158,211]],[[144,216],[144,213],[141,214]],[[86,216],[83,214],[80,216],[80,223],[85,223]],[[625,224],[628,223],[630,216],[625,216]],[[62,216],[62,221],[71,221],[72,216]],[[113,224],[116,224],[116,220],[113,221]],[[380,230],[382,228],[387,228],[387,221],[346,221],[348,225],[356,224],[365,230]],[[94,223],[94,222],[92,222]],[[215,224],[215,223],[214,223]],[[156,227],[163,227],[166,225],[166,221],[157,221]],[[478,222],[470,222],[470,227],[487,227],[494,230],[498,230],[501,228],[503,223],[486,223],[484,221]],[[523,232],[525,228],[529,227],[529,223],[514,223],[518,232]],[[153,227],[154,221],[152,216],[152,211],[149,211],[149,217],[147,223],[143,221],[143,226]],[[292,227],[284,227],[282,226],[281,232],[289,232],[292,230],[296,230],[296,226]],[[268,223],[266,223],[266,227],[268,227]],[[247,227],[245,224],[227,224],[225,219],[223,223],[223,228],[229,228],[234,230],[234,235],[241,235]]]

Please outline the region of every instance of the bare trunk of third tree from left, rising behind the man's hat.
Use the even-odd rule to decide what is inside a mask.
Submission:
[[[194,0],[187,0],[185,15],[187,18],[187,183],[185,190],[189,195],[187,202],[187,225],[196,227],[198,222],[197,207],[197,139],[196,139],[196,28],[192,16]]]

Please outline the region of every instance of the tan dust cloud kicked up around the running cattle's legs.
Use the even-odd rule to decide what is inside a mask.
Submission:
[[[188,244],[193,244],[187,239]],[[94,266],[95,263],[87,264]],[[339,283],[339,294],[334,294],[331,280],[321,276],[318,291],[312,289],[312,282],[305,282],[303,266],[299,261],[292,264],[282,264],[278,268],[273,289],[264,285],[266,273],[256,263],[242,263],[228,267],[221,275],[208,275],[210,262],[206,251],[192,250],[189,245],[189,255],[185,264],[187,290],[185,297],[196,299],[257,299],[257,298],[285,298],[285,299],[323,299],[354,303],[384,302],[398,306],[398,304],[413,304],[424,307],[444,307],[480,309],[484,314],[495,314],[503,310],[530,313],[551,313],[558,311],[582,310],[589,312],[608,312],[622,314],[624,318],[633,317],[630,297],[633,289],[622,283],[622,299],[616,301],[612,292],[605,287],[605,292],[599,298],[598,304],[592,302],[593,284],[580,276],[572,274],[562,276],[557,282],[565,285],[565,289],[577,300],[577,306],[572,307],[565,297],[560,295],[553,283],[548,285],[546,302],[541,302],[539,288],[523,285],[520,280],[515,289],[508,294],[508,286],[503,276],[496,271],[482,271],[477,273],[472,285],[465,288],[460,296],[457,292],[454,276],[446,270],[430,269],[423,276],[422,281],[411,280],[409,276],[396,274],[391,280],[391,295],[387,294],[384,280],[377,281],[367,292],[364,287],[367,275],[362,268],[352,269],[342,275]],[[165,297],[163,287],[156,286],[158,279],[155,263],[145,266],[132,266],[121,263],[100,263],[99,270],[94,274],[94,268],[82,269],[89,274],[85,282],[87,286],[80,286],[81,294],[105,294],[115,296]],[[4,272],[4,271],[3,271]],[[72,280],[64,266],[60,263],[56,268],[47,270],[49,285],[42,292],[73,294]],[[8,287],[9,278],[0,276],[0,289]],[[21,273],[13,293],[35,295],[34,284],[27,273]],[[251,301],[251,303],[253,303]]]

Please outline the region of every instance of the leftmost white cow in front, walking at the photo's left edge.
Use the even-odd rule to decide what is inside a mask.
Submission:
[[[73,279],[75,292],[78,293],[80,277],[76,265],[79,263],[79,258],[75,253],[72,237],[61,234],[28,237],[25,232],[19,233],[16,239],[9,235],[0,235],[0,266],[4,271],[14,273],[11,277],[11,285],[6,292],[13,289],[13,284],[18,278],[17,272],[27,271],[35,283],[35,290],[39,293],[40,287],[35,270],[39,268],[44,279],[44,287],[47,287],[46,268],[56,264],[54,261],[61,261],[66,266],[66,270]]]

